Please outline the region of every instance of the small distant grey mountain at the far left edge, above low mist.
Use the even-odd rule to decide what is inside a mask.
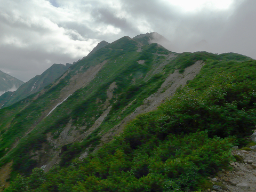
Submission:
[[[17,90],[24,82],[0,71],[0,95],[9,90]]]

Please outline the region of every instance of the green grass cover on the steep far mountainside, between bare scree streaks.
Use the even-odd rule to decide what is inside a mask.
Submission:
[[[45,87],[44,93],[40,93],[36,100],[34,99],[36,95],[30,95],[28,98],[15,103],[14,106],[1,109],[1,118],[6,119],[5,115],[9,113],[6,121],[3,122],[3,126],[0,127],[2,131],[0,141],[1,165],[13,159],[14,173],[28,174],[38,163],[36,160],[31,159],[33,157],[31,151],[41,149],[42,143],[46,142],[46,133],[51,132],[55,139],[58,138],[60,132],[70,120],[78,129],[81,126],[86,126],[86,129],[88,129],[94,123],[94,119],[97,119],[105,110],[102,103],[106,101],[106,90],[113,82],[116,82],[117,89],[114,91],[113,99],[109,101],[113,105],[113,110],[110,111],[107,119],[115,121],[118,116],[118,120],[116,119],[113,124],[106,121],[96,133],[89,135],[87,140],[99,140],[100,135],[97,136],[98,132],[110,129],[110,126],[113,127],[126,114],[131,113],[136,106],[140,105],[143,98],[148,97],[157,90],[167,75],[160,74],[154,76],[151,81],[149,79],[149,81],[144,82],[143,77],[153,68],[153,64],[156,65],[156,63],[164,60],[152,53],[166,54],[169,51],[158,47],[156,44],[144,47],[145,51],[141,53],[137,52],[137,49],[137,42],[130,38],[119,39],[117,42],[71,66],[68,75],[59,84],[53,87],[52,85]],[[77,90],[67,101],[55,109],[50,116],[44,118],[47,114],[46,111],[49,111],[49,106],[56,105],[54,103],[59,98],[61,89],[68,84],[69,79],[74,74],[77,74],[77,71],[83,73],[90,66],[95,66],[106,59],[108,62],[102,67],[93,81],[86,87]],[[145,65],[138,64],[137,61],[140,59],[146,59]],[[81,67],[84,68],[81,70]],[[97,103],[97,99],[102,103]],[[123,114],[120,114],[124,107],[134,99],[137,99],[137,104],[126,108]],[[27,134],[28,131],[31,132]],[[26,137],[22,138],[25,133],[27,134]],[[12,149],[13,143],[17,138],[22,139],[17,147],[7,154]],[[83,142],[83,146],[79,147],[84,149],[90,145],[91,143],[88,143],[87,140]],[[47,147],[51,148],[50,146]],[[7,155],[3,157],[4,154]]]

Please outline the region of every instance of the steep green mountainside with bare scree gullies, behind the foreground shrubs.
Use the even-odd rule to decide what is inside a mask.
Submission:
[[[42,91],[0,110],[0,165],[12,162],[10,172],[29,174],[85,158],[171,97],[209,58],[223,59],[178,54],[130,37],[102,47]]]

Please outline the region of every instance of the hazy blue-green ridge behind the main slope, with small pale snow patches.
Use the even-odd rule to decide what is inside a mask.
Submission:
[[[71,66],[67,63],[66,65],[62,64],[53,64],[49,69],[45,70],[41,75],[37,75],[34,78],[31,78],[28,82],[22,84],[19,89],[15,92],[6,92],[0,97],[0,108],[7,107],[13,103],[20,101],[31,94],[34,94],[38,91],[43,90],[46,85],[49,85],[55,79],[60,77],[65,71]]]

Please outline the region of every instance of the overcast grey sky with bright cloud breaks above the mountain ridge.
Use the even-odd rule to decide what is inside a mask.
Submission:
[[[0,70],[28,81],[100,41],[153,31],[174,52],[256,59],[255,9],[255,0],[0,0]]]

